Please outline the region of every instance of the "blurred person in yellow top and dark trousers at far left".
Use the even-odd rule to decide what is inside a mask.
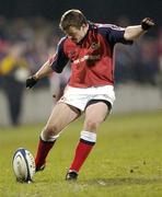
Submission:
[[[24,49],[25,46],[22,43],[10,46],[9,54],[0,63],[2,89],[7,95],[10,117],[14,126],[20,123],[24,82],[28,76],[27,62],[22,56]]]

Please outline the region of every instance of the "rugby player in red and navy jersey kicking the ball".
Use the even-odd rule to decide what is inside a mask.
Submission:
[[[69,10],[60,19],[60,28],[66,34],[57,46],[57,53],[40,69],[26,80],[31,89],[51,72],[60,73],[68,62],[71,77],[62,97],[54,107],[40,132],[35,158],[36,171],[46,165],[46,158],[60,131],[85,114],[80,140],[66,179],[77,179],[79,171],[96,142],[100,125],[109,114],[114,100],[114,46],[117,43],[132,44],[153,26],[146,18],[139,25],[125,28],[112,24],[89,22],[79,10]]]

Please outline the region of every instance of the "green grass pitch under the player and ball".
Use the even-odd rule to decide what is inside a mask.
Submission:
[[[162,112],[111,115],[101,126],[91,155],[76,183],[65,174],[73,158],[83,119],[72,123],[51,150],[33,184],[15,182],[12,155],[36,151],[43,124],[0,127],[1,197],[160,197],[162,196]]]

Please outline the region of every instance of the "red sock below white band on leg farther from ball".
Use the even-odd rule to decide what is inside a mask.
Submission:
[[[80,167],[84,163],[94,144],[95,142],[89,142],[83,139],[80,139],[80,142],[78,143],[76,149],[76,155],[70,166],[70,170],[79,172]]]

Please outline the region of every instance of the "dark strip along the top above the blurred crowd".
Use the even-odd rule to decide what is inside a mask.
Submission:
[[[1,0],[0,14],[9,19],[44,16],[58,21],[68,9],[80,9],[89,20],[114,22],[126,15],[137,23],[144,16],[162,25],[162,0]]]

